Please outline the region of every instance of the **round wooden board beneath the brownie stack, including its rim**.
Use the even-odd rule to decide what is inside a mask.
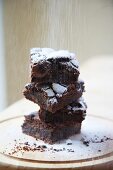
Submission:
[[[23,100],[24,103],[24,100]],[[32,103],[30,106],[32,107]],[[21,104],[17,105],[20,107]],[[27,106],[25,101],[24,107]],[[16,108],[16,109],[17,109]],[[32,109],[33,110],[33,109]],[[27,110],[26,110],[27,111]],[[9,112],[10,114],[10,112]],[[54,145],[45,144],[47,151],[18,151],[12,152],[16,146],[22,146],[25,142],[32,145],[34,142],[38,145],[43,145],[43,141],[36,141],[34,138],[24,135],[21,131],[21,125],[24,117],[15,115],[10,119],[0,117],[0,168],[8,167],[8,170],[14,169],[106,169],[113,168],[113,141],[90,143],[86,146],[82,143],[83,137],[87,140],[98,138],[98,141],[107,138],[113,139],[113,120],[104,119],[96,116],[87,116],[83,122],[81,133],[70,137],[72,145],[68,146],[66,140]],[[94,126],[96,124],[96,126]],[[107,127],[107,129],[106,129]],[[20,144],[21,143],[21,144]],[[51,150],[50,148],[53,147]],[[54,149],[65,148],[65,151],[53,152]],[[74,152],[68,152],[68,149]],[[100,151],[99,151],[100,150]],[[22,150],[23,151],[23,150]],[[9,155],[11,153],[11,155]]]

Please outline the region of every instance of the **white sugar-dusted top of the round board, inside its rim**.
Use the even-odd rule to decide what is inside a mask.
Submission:
[[[33,148],[36,147],[38,148],[38,146],[46,146],[44,147],[45,149],[43,152],[42,150],[40,150],[39,147],[39,150],[38,149],[33,151],[24,150],[24,153],[23,150],[19,150],[17,153],[11,155],[18,159],[24,158],[31,161],[51,160],[61,162],[73,160],[81,161],[85,159],[87,162],[89,158],[91,159],[95,157],[98,157],[98,159],[102,161],[103,155],[106,154],[108,155],[109,153],[113,152],[113,140],[112,140],[113,121],[109,121],[109,119],[102,119],[88,114],[86,120],[82,124],[80,134],[71,136],[68,141],[62,140],[60,142],[55,143],[54,145],[45,144],[42,140],[36,140],[35,138],[32,138],[28,135],[24,135],[21,130],[23,120],[24,120],[23,117],[8,120],[9,121],[8,125],[10,124],[10,128],[8,128],[6,122],[3,122],[5,123],[5,125],[1,123],[0,125],[0,135],[2,136],[2,138],[0,138],[1,153],[5,152],[5,154],[7,155],[9,155],[9,153],[12,153],[12,149],[13,151],[15,149],[15,139],[16,146],[26,146],[27,144],[28,144],[27,146],[30,145]],[[7,126],[7,128],[4,129],[4,126]],[[15,131],[17,133],[15,133]],[[108,157],[106,158],[108,159]],[[111,159],[111,157],[109,158]],[[84,165],[86,165],[86,162]],[[49,168],[50,167],[48,167],[48,169]],[[71,164],[70,168],[72,168]]]

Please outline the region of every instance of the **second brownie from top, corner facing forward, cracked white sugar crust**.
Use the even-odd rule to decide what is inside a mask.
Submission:
[[[61,85],[52,83],[51,85],[37,85],[29,83],[23,91],[24,96],[39,104],[44,110],[56,112],[82,96],[84,82],[77,81],[74,84]]]

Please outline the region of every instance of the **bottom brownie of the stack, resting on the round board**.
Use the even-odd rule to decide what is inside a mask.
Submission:
[[[34,119],[35,114],[25,116],[22,125],[23,133],[44,142],[53,144],[61,139],[66,139],[71,135],[80,132],[81,123],[67,121],[65,123],[44,123],[39,118]]]

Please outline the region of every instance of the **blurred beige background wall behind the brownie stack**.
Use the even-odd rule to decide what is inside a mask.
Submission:
[[[113,55],[113,0],[3,0],[2,11],[7,105],[23,97],[31,47],[68,49],[80,65]]]

